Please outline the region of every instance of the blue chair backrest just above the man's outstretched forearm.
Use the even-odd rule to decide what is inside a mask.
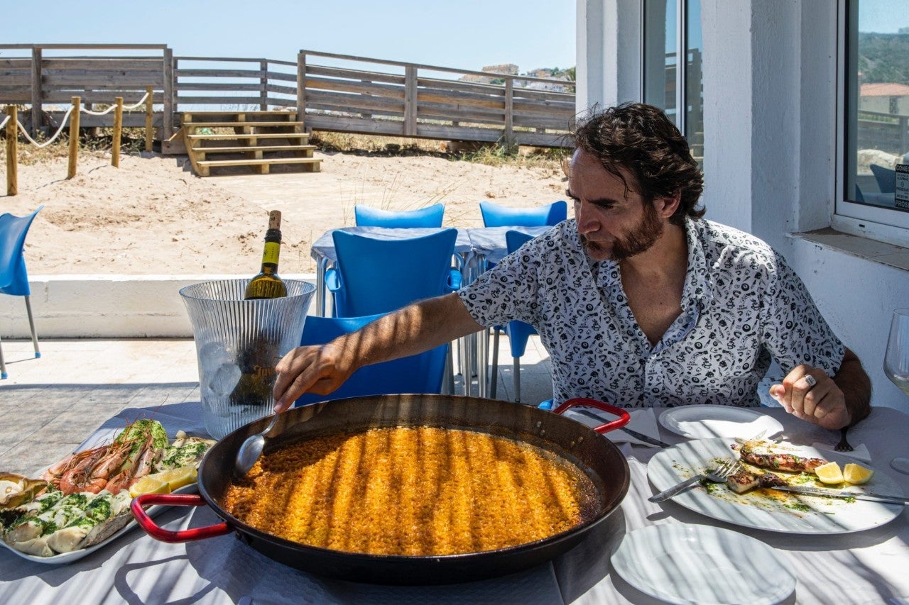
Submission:
[[[423,237],[383,240],[335,231],[335,315],[356,317],[399,309],[452,292],[456,229]]]

